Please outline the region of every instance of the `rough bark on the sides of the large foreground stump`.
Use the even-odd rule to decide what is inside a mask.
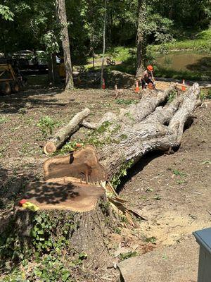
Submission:
[[[102,188],[103,189],[103,188]],[[20,247],[25,247],[34,251],[32,245],[31,230],[34,225],[33,219],[37,214],[46,214],[49,216],[49,222],[54,223],[54,228],[51,230],[51,243],[56,243],[60,239],[60,231],[64,225],[68,225],[68,232],[65,233],[65,239],[69,240],[69,244],[63,246],[65,253],[69,256],[77,257],[80,253],[86,253],[87,259],[84,264],[94,264],[94,266],[103,267],[109,256],[108,240],[109,235],[120,226],[120,220],[113,213],[110,204],[106,200],[106,195],[99,197],[94,209],[89,212],[74,212],[68,209],[56,209],[54,204],[53,209],[41,209],[36,213],[29,210],[17,208],[11,218],[13,219],[13,228],[4,230],[0,235],[10,238],[14,237]],[[58,218],[60,221],[58,222]],[[43,229],[45,233],[45,229]],[[2,236],[3,237],[3,236]],[[50,248],[49,248],[50,250]],[[96,257],[100,259],[96,260]],[[5,259],[6,257],[2,257]],[[87,280],[86,280],[87,281]]]

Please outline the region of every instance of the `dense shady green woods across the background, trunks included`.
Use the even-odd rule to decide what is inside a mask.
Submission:
[[[73,64],[84,63],[91,56],[91,52],[101,52],[105,2],[62,2],[63,6],[66,4],[66,12],[64,10],[61,13],[67,18],[67,24],[60,23],[64,18],[57,15],[59,1],[5,0],[0,6],[0,51],[9,54],[30,49],[44,50],[48,54],[63,54],[64,40],[68,44],[69,39]],[[124,44],[127,47],[136,44],[137,75],[148,60],[148,44],[172,42],[172,39],[181,37],[188,30],[193,34],[193,30],[205,30],[210,25],[210,5],[207,0],[110,0],[106,6],[106,51],[114,45]],[[69,32],[69,38],[67,35],[64,37],[64,30],[67,35]],[[52,59],[52,56],[49,58]],[[71,69],[70,62],[68,69]],[[72,85],[71,79],[67,80],[67,84]]]

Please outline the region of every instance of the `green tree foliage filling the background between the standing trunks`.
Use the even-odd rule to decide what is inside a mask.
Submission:
[[[116,61],[127,61],[124,69],[129,68],[130,59],[136,57],[136,51],[130,53],[124,47],[132,46],[136,42],[138,4],[139,0],[108,1],[106,56]],[[152,51],[160,51],[163,44],[167,44],[168,49],[191,48],[207,51],[210,48],[210,44],[205,43],[210,39],[210,31],[197,30],[207,29],[210,23],[210,5],[207,0],[177,0],[174,3],[145,0],[145,4],[146,21],[142,28],[146,43],[153,45]],[[0,51],[8,54],[21,49],[44,49],[48,59],[49,54],[60,52],[62,42],[55,10],[56,1],[5,0],[0,6]],[[90,59],[92,49],[95,54],[101,53],[103,1],[67,1],[66,10],[72,42],[72,60],[75,64],[82,65]],[[190,37],[192,38],[189,39]],[[114,48],[121,45],[124,47]],[[123,64],[119,67],[122,68]]]

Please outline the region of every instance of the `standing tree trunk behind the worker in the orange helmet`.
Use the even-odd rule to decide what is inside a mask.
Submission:
[[[146,0],[139,0],[138,4],[138,28],[137,28],[137,67],[136,77],[142,75],[146,59],[146,35],[144,25],[146,24]]]

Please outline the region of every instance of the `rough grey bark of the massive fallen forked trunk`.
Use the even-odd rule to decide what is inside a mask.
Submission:
[[[150,151],[179,147],[184,125],[193,114],[199,92],[199,86],[195,84],[186,94],[174,99],[171,104],[158,107],[145,119],[134,118],[130,124],[124,121],[121,133],[115,135],[115,140],[119,142],[97,150],[98,161],[105,170],[106,178],[112,179],[122,166],[129,161],[135,164]],[[136,113],[136,108],[133,112]]]

